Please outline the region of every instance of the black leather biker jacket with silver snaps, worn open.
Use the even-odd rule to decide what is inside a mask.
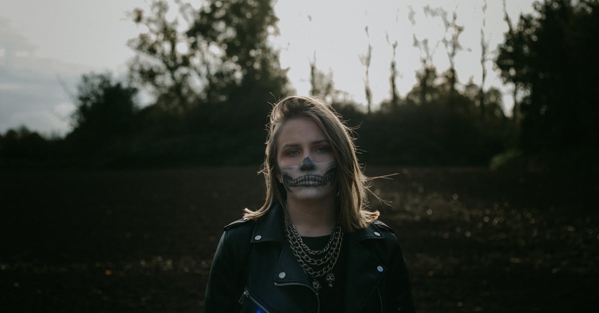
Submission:
[[[210,269],[205,313],[319,312],[319,298],[285,239],[282,211],[277,204],[261,218],[225,227]],[[345,312],[414,312],[391,228],[375,221],[344,241]]]

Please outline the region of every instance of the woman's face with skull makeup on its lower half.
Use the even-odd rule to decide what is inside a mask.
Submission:
[[[288,199],[319,200],[334,197],[337,171],[331,143],[310,118],[292,118],[277,138],[277,179]]]

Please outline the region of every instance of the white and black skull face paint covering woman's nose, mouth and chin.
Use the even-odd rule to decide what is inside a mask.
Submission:
[[[335,161],[314,162],[306,157],[301,164],[281,167],[280,170],[288,197],[308,200],[326,197],[335,192]]]

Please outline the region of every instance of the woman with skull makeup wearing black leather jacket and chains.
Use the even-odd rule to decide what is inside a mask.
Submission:
[[[271,112],[266,201],[225,227],[204,312],[413,312],[400,246],[366,210],[350,130],[326,104]]]

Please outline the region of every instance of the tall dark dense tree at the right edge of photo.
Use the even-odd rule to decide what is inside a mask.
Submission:
[[[525,152],[596,149],[599,2],[535,4],[505,35],[497,66],[524,91],[520,146]]]

